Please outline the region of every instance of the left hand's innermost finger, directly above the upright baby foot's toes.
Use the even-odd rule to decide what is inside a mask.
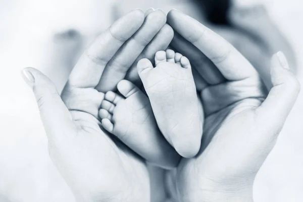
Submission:
[[[137,71],[137,63],[143,58],[147,58],[151,62],[155,62],[155,55],[158,51],[165,51],[168,47],[172,38],[174,36],[174,31],[169,25],[164,25],[157,35],[151,40],[151,42],[144,48],[143,52],[132,64],[131,68],[127,72],[125,77],[126,80],[131,81],[136,86],[141,86],[141,80]]]

